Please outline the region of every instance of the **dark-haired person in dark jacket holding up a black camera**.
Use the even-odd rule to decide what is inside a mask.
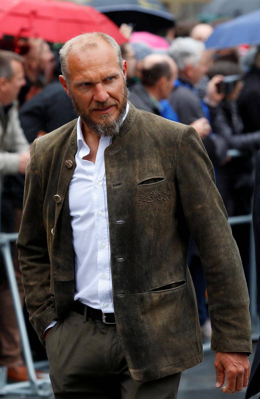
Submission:
[[[244,133],[244,125],[236,99],[243,87],[243,70],[230,61],[219,61],[209,70],[209,75],[237,76],[230,91],[217,108],[209,108],[214,132],[222,136],[229,148],[240,151],[219,170],[219,191],[229,216],[250,213],[254,188],[252,155],[260,148],[260,128]]]

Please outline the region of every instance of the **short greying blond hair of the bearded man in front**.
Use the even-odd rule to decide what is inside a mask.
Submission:
[[[61,47],[59,51],[59,58],[61,61],[61,72],[66,82],[68,82],[68,74],[69,74],[69,65],[68,65],[68,55],[73,49],[73,51],[83,50],[86,48],[97,48],[98,41],[105,41],[110,44],[111,47],[116,52],[116,56],[118,59],[118,63],[121,71],[123,70],[123,59],[121,54],[121,49],[118,43],[109,35],[106,35],[102,32],[93,32],[93,33],[83,33],[82,35],[76,36],[72,38]]]

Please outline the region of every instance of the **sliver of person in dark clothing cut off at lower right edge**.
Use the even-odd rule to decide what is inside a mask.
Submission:
[[[256,180],[254,186],[253,201],[253,226],[254,226],[254,243],[256,251],[256,282],[258,291],[258,304],[260,304],[260,151],[256,157]],[[252,363],[250,380],[246,390],[246,399],[260,392],[260,339],[256,346],[254,360]]]

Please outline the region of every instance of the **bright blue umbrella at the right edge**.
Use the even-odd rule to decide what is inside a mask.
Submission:
[[[206,41],[207,49],[225,49],[240,44],[260,44],[260,10],[216,26]]]

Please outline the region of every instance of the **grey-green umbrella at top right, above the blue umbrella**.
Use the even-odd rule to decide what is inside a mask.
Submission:
[[[260,8],[260,0],[213,0],[199,14],[200,20],[209,22],[219,18],[236,18]]]

